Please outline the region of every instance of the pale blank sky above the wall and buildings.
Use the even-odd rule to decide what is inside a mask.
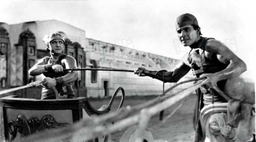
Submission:
[[[252,1],[4,1],[0,22],[15,24],[55,19],[84,29],[87,38],[181,59],[176,17],[192,13],[204,37],[222,41],[248,65],[255,66],[255,8]]]

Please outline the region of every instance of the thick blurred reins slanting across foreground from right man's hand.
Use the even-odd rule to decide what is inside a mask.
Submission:
[[[183,100],[189,96],[193,91],[197,90],[201,85],[208,82],[206,78],[190,79],[179,82],[170,87],[163,94],[173,90],[176,86],[191,81],[197,81],[184,88],[183,90],[171,93],[168,95],[161,95],[156,99],[150,100],[146,103],[135,105],[134,107],[127,106],[121,108],[118,112],[95,116],[93,119],[81,120],[74,123],[72,126],[67,126],[61,129],[50,130],[47,132],[39,132],[26,137],[23,141],[41,141],[41,140],[57,140],[65,137],[76,136],[79,140],[87,140],[97,137],[99,135],[107,135],[119,130],[128,128],[133,125],[139,125],[139,129],[145,129],[148,125],[150,117],[161,112],[164,109],[170,108],[176,102]],[[114,124],[112,124],[114,122]],[[140,139],[140,137],[138,137]]]

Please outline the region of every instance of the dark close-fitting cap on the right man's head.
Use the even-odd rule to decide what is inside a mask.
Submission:
[[[198,20],[194,15],[185,13],[177,17],[176,29],[186,25],[198,25]],[[199,25],[198,25],[199,26]]]

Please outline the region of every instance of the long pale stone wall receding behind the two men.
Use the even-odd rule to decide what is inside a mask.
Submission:
[[[90,60],[97,61],[98,67],[135,70],[137,67],[145,67],[149,70],[173,70],[178,60],[150,54],[145,51],[135,50],[94,39],[87,39],[86,67],[93,67]],[[160,95],[162,93],[162,81],[150,77],[138,77],[131,72],[97,72],[97,82],[91,82],[92,72],[86,71],[86,89],[88,97],[103,97],[112,95],[122,86],[126,96],[135,95]],[[191,74],[187,76],[191,77]],[[187,78],[186,77],[186,78]],[[185,79],[186,79],[185,78]],[[104,81],[108,81],[108,91],[105,93]],[[174,83],[165,83],[169,88]]]

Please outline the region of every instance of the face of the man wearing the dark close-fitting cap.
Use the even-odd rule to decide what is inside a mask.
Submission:
[[[195,30],[191,25],[180,27],[176,31],[183,46],[190,46],[200,38],[199,30]]]

